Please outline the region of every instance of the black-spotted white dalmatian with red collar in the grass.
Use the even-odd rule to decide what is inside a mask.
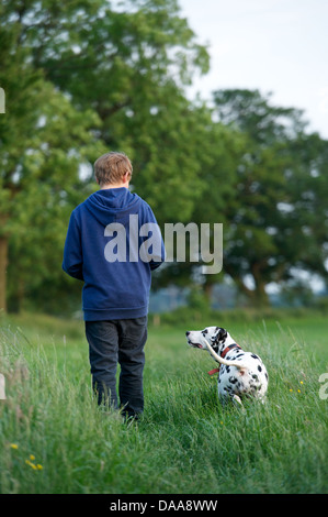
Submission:
[[[225,403],[231,400],[242,405],[244,397],[253,397],[264,403],[268,389],[268,373],[262,360],[251,352],[245,352],[222,327],[206,327],[204,330],[185,332],[190,346],[207,350],[220,363],[218,372],[218,397]]]

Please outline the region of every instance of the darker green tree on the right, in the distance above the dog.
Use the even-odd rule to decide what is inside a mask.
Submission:
[[[218,120],[245,138],[225,207],[224,271],[256,305],[268,304],[268,284],[302,268],[327,278],[328,142],[306,133],[299,110],[258,90],[219,90],[214,100]]]

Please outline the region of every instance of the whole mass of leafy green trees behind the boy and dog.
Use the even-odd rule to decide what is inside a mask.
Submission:
[[[132,158],[161,227],[224,223],[207,294],[228,275],[263,304],[297,271],[327,278],[327,141],[258,90],[189,100],[210,57],[176,0],[3,0],[0,43],[1,308],[75,307],[80,286],[61,273],[68,218],[109,150]],[[154,285],[190,285],[197,271],[168,264]]]

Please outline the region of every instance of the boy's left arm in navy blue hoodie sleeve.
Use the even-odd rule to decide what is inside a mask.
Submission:
[[[83,280],[82,264],[81,234],[72,212],[65,241],[63,270],[69,276]]]

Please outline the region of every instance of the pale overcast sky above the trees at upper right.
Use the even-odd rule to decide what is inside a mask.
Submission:
[[[328,139],[328,0],[178,0],[210,44],[211,70],[193,91],[273,92],[272,103],[303,109],[308,131]]]

